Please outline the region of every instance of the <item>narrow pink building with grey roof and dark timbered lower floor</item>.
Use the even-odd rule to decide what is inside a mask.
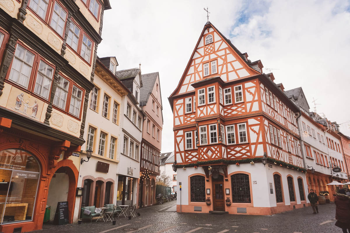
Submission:
[[[150,206],[155,201],[155,180],[159,175],[160,150],[162,145],[163,106],[159,73],[142,74],[140,107],[144,110],[142,129],[139,207]]]

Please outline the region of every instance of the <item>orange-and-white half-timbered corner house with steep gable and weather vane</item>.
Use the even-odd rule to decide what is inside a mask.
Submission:
[[[205,24],[169,97],[178,212],[274,214],[307,203],[299,109],[262,67]]]

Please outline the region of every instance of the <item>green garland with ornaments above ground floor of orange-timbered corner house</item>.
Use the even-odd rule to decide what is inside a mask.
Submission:
[[[273,163],[276,166],[286,167],[286,168],[297,170],[300,172],[306,172],[305,168],[301,168],[301,167],[292,165],[290,163],[282,162],[269,157],[267,157],[267,161],[270,163]],[[175,167],[176,168],[198,167],[202,165],[215,164],[215,163],[236,164],[238,166],[240,163],[252,163],[252,162],[253,163],[261,162],[261,158],[235,159],[235,160],[226,160],[226,159],[205,160],[205,161],[197,161],[196,163],[188,163],[188,164],[182,164],[182,165],[175,164]]]

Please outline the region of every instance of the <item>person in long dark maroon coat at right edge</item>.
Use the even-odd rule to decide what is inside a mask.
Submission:
[[[350,197],[345,194],[344,189],[339,190],[334,203],[336,205],[335,219],[337,219],[335,225],[342,228],[343,233],[348,233],[348,231],[350,233]]]

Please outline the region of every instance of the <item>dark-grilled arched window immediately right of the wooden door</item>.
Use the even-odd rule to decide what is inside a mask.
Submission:
[[[232,202],[251,203],[249,175],[238,173],[231,176]]]

